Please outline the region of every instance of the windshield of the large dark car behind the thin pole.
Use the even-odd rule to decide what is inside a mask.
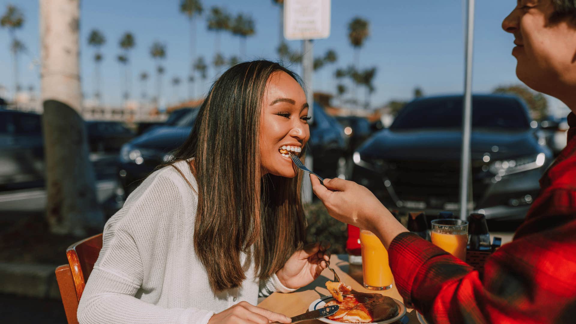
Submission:
[[[391,130],[446,129],[462,126],[462,97],[416,100],[400,111]],[[520,102],[507,97],[473,97],[472,127],[488,129],[529,129],[530,123]]]

